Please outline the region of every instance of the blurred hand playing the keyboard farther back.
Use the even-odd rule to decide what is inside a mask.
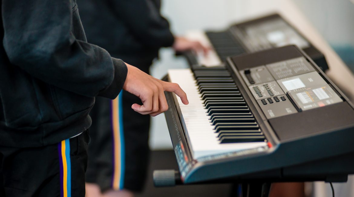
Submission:
[[[172,48],[177,52],[192,50],[196,54],[202,52],[204,55],[207,55],[210,48],[202,45],[199,41],[191,41],[184,37],[175,37],[175,43],[173,43]]]

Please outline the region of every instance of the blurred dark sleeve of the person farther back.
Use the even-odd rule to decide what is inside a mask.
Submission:
[[[174,37],[169,22],[160,15],[160,1],[110,1],[116,14],[141,43],[153,48],[172,46]]]

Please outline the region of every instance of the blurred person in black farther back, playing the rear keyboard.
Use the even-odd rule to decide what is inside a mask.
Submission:
[[[78,5],[88,41],[145,73],[161,47],[207,52],[199,42],[173,36],[160,15],[160,0],[78,0]],[[136,102],[138,98],[126,91],[113,101],[96,98],[90,113],[87,197],[133,196],[143,189],[150,117],[130,108]]]

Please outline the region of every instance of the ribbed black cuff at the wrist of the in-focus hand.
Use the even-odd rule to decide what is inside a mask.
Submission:
[[[128,73],[127,65],[122,60],[112,57],[112,61],[114,66],[113,81],[106,89],[98,94],[98,96],[106,97],[108,99],[115,99],[118,96],[123,88]]]

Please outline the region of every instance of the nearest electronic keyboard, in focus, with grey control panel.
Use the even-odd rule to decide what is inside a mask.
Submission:
[[[189,105],[165,92],[179,171],[156,186],[243,181],[346,181],[354,173],[354,108],[295,45],[173,69]]]

